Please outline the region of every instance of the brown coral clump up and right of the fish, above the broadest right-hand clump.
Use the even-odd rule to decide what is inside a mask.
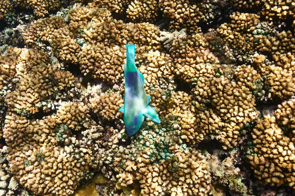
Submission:
[[[165,48],[175,59],[172,72],[181,80],[191,84],[199,77],[212,77],[215,74],[213,63],[217,63],[218,59],[209,51],[209,43],[203,33],[183,33],[165,43]]]

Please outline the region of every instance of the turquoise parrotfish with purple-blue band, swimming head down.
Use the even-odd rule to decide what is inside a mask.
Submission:
[[[156,110],[148,106],[150,96],[145,90],[144,76],[135,66],[135,45],[126,45],[126,63],[124,64],[125,97],[124,106],[119,112],[124,112],[124,124],[127,134],[133,136],[142,126],[145,116],[156,123],[161,120]]]

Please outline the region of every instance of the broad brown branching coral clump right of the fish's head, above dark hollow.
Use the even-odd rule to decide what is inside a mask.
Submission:
[[[197,112],[199,130],[212,133],[224,148],[233,148],[240,140],[240,131],[258,116],[255,98],[245,85],[238,86],[223,76],[201,78],[193,89],[211,107],[200,107]],[[213,124],[212,124],[213,123]]]

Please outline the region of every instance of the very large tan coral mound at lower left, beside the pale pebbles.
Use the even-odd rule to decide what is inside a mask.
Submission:
[[[62,126],[50,116],[42,120],[28,120],[13,113],[6,116],[3,133],[10,146],[11,172],[35,194],[71,194],[89,170],[89,156],[79,155],[83,150],[75,147],[74,140],[67,140],[64,147],[57,145]]]

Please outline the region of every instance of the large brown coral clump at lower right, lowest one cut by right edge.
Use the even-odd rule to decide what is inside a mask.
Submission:
[[[254,148],[250,164],[261,183],[295,188],[294,142],[284,134],[277,120],[270,115],[258,120],[251,134]]]

